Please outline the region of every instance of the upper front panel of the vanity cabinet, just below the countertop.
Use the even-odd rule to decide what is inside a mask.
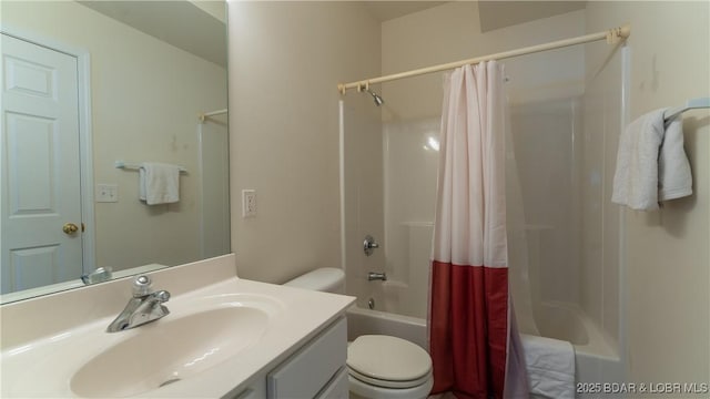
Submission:
[[[341,318],[266,377],[268,398],[315,398],[345,365],[347,325]]]

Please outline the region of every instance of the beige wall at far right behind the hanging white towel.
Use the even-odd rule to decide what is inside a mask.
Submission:
[[[630,120],[709,95],[708,2],[587,3],[588,30],[623,22],[632,29]],[[600,65],[604,54],[595,60]],[[708,110],[683,115],[694,194],[659,212],[622,215],[629,381],[707,382],[710,377],[709,115]]]

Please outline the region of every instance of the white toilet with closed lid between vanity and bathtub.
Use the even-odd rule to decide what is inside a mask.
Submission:
[[[284,284],[285,286],[343,294],[345,274],[323,267]],[[434,386],[432,358],[405,339],[364,335],[347,345],[351,398],[424,399]]]

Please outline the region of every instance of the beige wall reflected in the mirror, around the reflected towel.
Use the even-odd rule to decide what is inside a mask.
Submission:
[[[225,108],[226,71],[73,1],[3,1],[2,21],[90,53],[94,183],[119,186],[119,202],[97,203],[88,225],[93,267],[199,259],[196,113]],[[116,160],[185,166],[180,203],[140,203],[138,172]]]

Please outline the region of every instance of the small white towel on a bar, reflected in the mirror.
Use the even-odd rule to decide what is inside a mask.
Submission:
[[[139,197],[148,205],[180,201],[180,166],[145,162],[139,173]]]

